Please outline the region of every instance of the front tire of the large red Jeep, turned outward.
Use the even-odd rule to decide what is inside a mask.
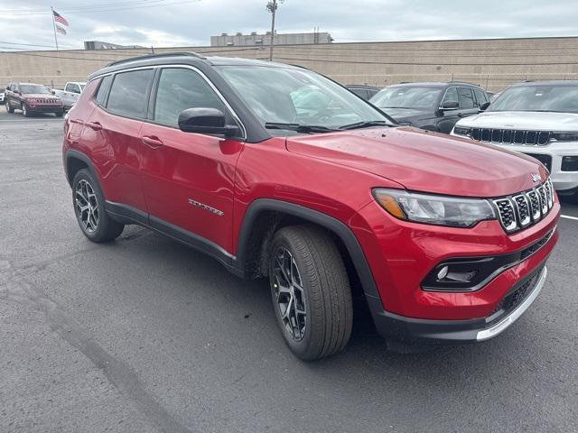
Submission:
[[[294,300],[294,305],[304,305],[303,332],[296,330],[299,324],[292,327],[285,321],[287,318],[283,318],[282,312],[284,307],[278,301],[280,298],[277,294],[281,290],[278,286],[284,285],[284,281],[281,281],[284,280],[283,272],[279,271],[278,266],[283,260],[278,259],[285,251],[294,260],[296,268],[291,269],[292,272],[297,270],[295,273],[303,288],[302,302]],[[303,360],[314,360],[342,350],[350,340],[353,307],[345,264],[331,235],[316,226],[281,228],[273,237],[269,259],[269,281],[275,317],[294,355]],[[290,295],[284,291],[282,296]],[[293,294],[291,296],[294,299],[297,297]],[[291,304],[287,302],[287,305]],[[297,312],[294,314],[296,316]],[[300,338],[297,339],[295,334]]]

